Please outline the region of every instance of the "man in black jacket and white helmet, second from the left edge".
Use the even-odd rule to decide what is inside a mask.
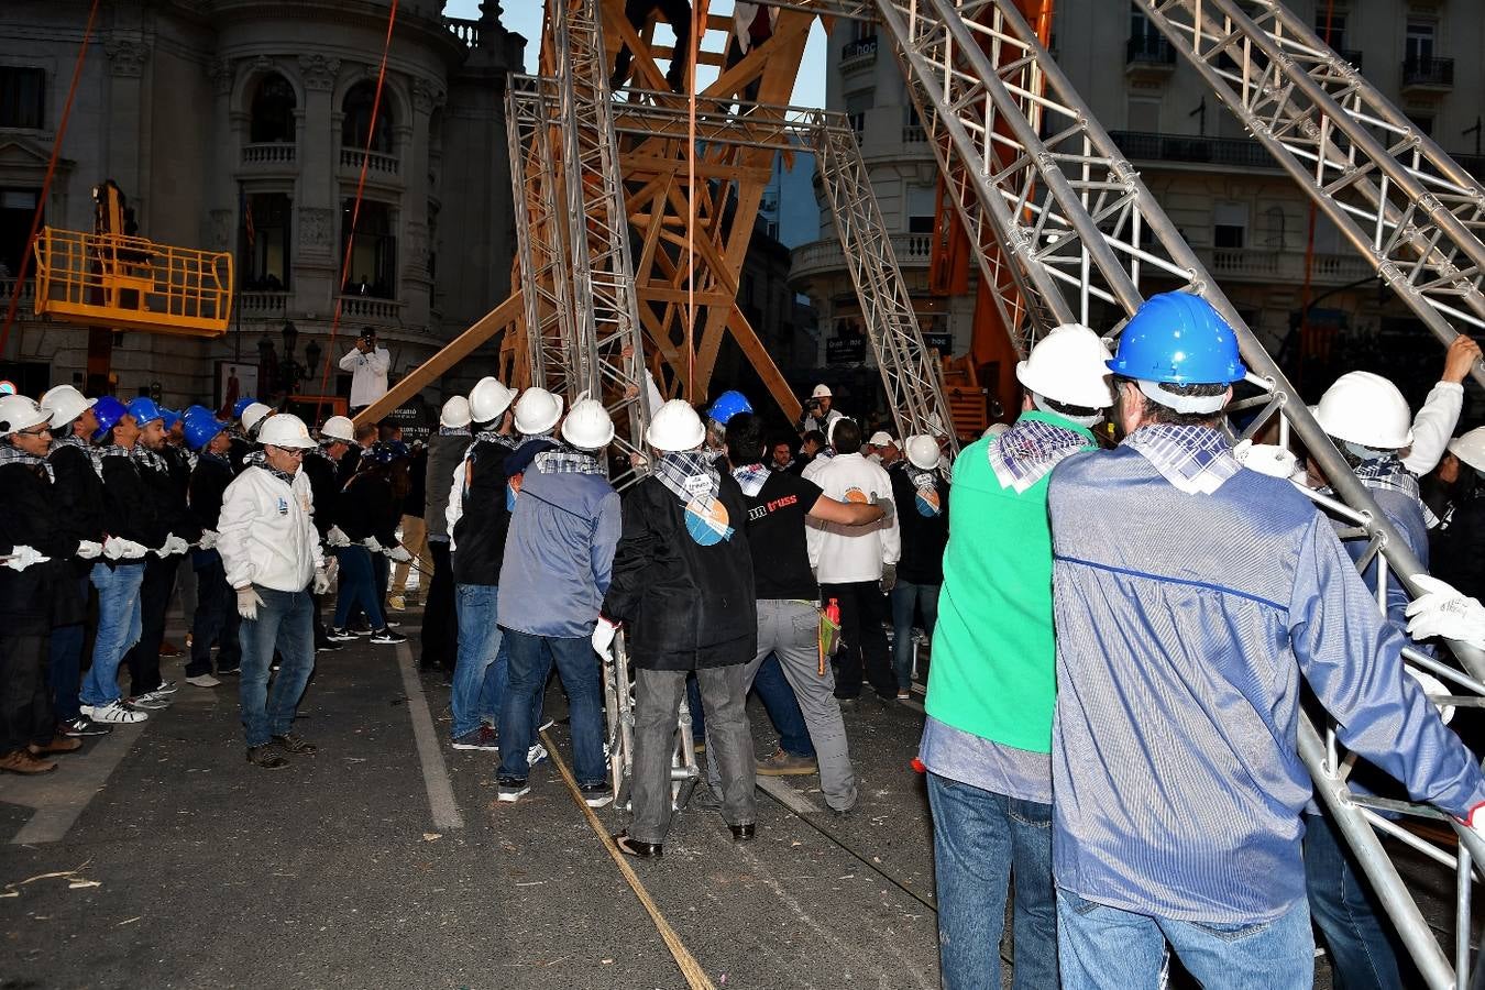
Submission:
[[[88,442],[98,429],[94,402],[70,384],[59,384],[42,396],[42,408],[52,416],[52,450],[46,459],[52,465],[56,519],[68,539],[77,542],[68,568],[77,598],[85,606],[91,592],[88,574],[102,554],[102,479],[98,478]],[[74,738],[105,736],[113,732],[79,708],[86,637],[88,626],[79,617],[77,622],[53,628],[49,643],[46,678],[52,693],[52,715],[56,718],[56,730]]]

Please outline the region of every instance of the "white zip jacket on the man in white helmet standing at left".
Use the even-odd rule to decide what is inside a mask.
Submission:
[[[221,499],[217,552],[233,588],[260,585],[304,591],[324,566],[315,531],[315,499],[303,468],[287,485],[273,472],[249,466]]]

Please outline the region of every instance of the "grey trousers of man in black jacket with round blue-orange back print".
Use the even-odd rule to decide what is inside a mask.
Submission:
[[[670,761],[676,751],[680,696],[689,671],[634,671],[634,819],[630,836],[665,842],[670,831]],[[757,818],[753,732],[744,701],[751,677],[747,665],[696,671],[707,709],[707,758],[716,760],[722,781],[722,819],[747,825]]]

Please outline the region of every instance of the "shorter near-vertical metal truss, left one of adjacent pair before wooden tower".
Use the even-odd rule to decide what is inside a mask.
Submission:
[[[563,199],[551,147],[555,86],[512,76],[505,91],[511,184],[515,187],[515,243],[521,263],[526,310],[526,358],[532,383],[557,395],[575,395],[572,373],[572,301],[563,242]]]

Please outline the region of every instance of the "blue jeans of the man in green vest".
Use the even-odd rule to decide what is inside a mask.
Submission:
[[[1001,986],[1005,896],[1016,880],[1016,990],[1057,986],[1051,804],[928,775],[939,969],[947,990]]]

